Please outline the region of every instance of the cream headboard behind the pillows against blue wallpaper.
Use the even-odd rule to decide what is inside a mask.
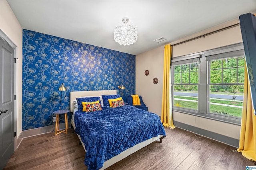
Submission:
[[[70,92],[70,112],[73,112],[74,110],[74,100],[79,97],[83,96],[100,96],[100,95],[110,95],[110,94],[116,94],[116,90],[95,90],[95,91],[76,91],[76,92]]]

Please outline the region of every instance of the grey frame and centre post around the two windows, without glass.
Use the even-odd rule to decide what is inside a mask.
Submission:
[[[244,47],[243,43],[236,43],[233,45],[228,45],[224,47],[219,47],[216,49],[211,49],[208,51],[202,51],[200,53],[194,53],[191,55],[184,55],[179,57],[174,57],[171,60],[171,98],[172,98],[172,110],[187,113],[191,115],[196,115],[199,117],[205,117],[208,119],[214,119],[217,121],[222,121],[234,125],[241,124],[241,117],[233,117],[228,115],[221,115],[218,113],[210,113],[210,85],[208,82],[210,81],[210,74],[209,74],[209,63],[208,60],[212,58],[232,58],[232,57],[241,57],[240,54],[244,56]],[[182,107],[174,106],[174,65],[176,62],[179,64],[187,64],[187,62],[191,59],[194,59],[195,56],[200,56],[199,61],[199,68],[198,68],[198,75],[199,75],[199,82],[198,82],[198,110],[191,110]],[[235,56],[234,56],[235,55]],[[240,56],[237,56],[240,55]],[[222,57],[221,57],[222,56]],[[184,63],[183,63],[184,62]],[[193,62],[192,62],[193,63]],[[177,63],[176,63],[177,64]],[[185,85],[185,84],[184,84]],[[231,85],[231,84],[229,84]]]

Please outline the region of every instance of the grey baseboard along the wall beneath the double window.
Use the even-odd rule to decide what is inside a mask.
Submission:
[[[215,141],[221,142],[221,143],[225,143],[227,145],[230,145],[232,147],[238,148],[239,147],[239,140],[238,139],[234,139],[232,137],[227,137],[224,135],[220,135],[218,133],[214,133],[211,131],[207,131],[204,129],[200,129],[198,127],[194,127],[191,125],[187,125],[178,121],[173,121],[174,126],[180,128],[180,129],[184,129],[186,131],[190,131],[193,133],[196,133],[198,135],[202,135],[204,137],[213,139]]]

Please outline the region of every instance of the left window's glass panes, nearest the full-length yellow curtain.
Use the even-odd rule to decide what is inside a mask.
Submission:
[[[198,110],[198,80],[200,55],[172,60],[173,104],[180,109]],[[181,64],[183,63],[183,64]]]

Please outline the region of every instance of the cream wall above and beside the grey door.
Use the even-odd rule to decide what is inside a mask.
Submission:
[[[0,0],[0,29],[17,46],[17,136],[22,132],[22,27],[6,0]]]

